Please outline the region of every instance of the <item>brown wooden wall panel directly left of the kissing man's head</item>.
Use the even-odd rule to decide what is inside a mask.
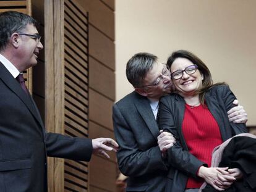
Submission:
[[[99,91],[112,101],[115,100],[114,72],[98,61],[89,57],[90,70],[89,79],[90,87]]]

